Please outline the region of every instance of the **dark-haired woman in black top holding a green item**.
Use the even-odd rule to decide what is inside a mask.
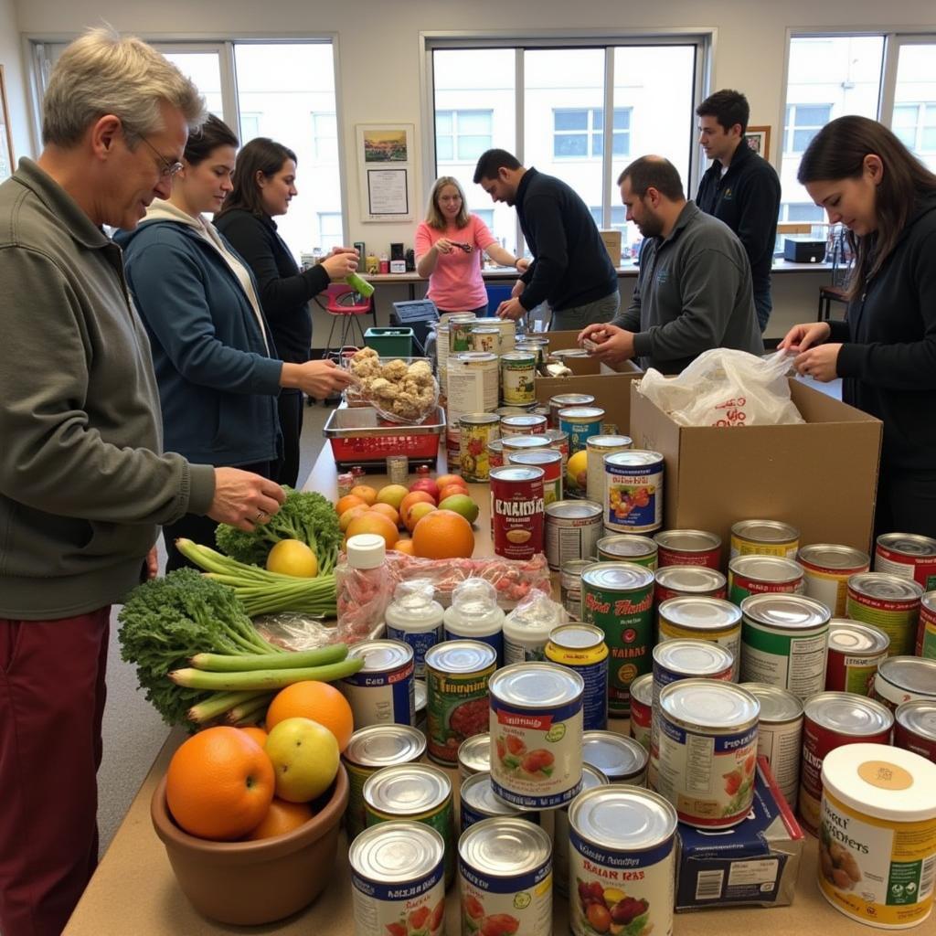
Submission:
[[[300,272],[273,221],[275,215],[289,210],[297,194],[296,154],[282,144],[265,137],[252,139],[237,156],[233,183],[224,210],[214,219],[215,227],[254,272],[279,357],[302,363],[309,360],[312,349],[309,300],[329,282],[344,280],[357,270],[358,253],[336,247],[320,264]],[[302,431],[300,390],[280,393],[279,415],[283,458],[274,468],[274,478],[295,487]]]

